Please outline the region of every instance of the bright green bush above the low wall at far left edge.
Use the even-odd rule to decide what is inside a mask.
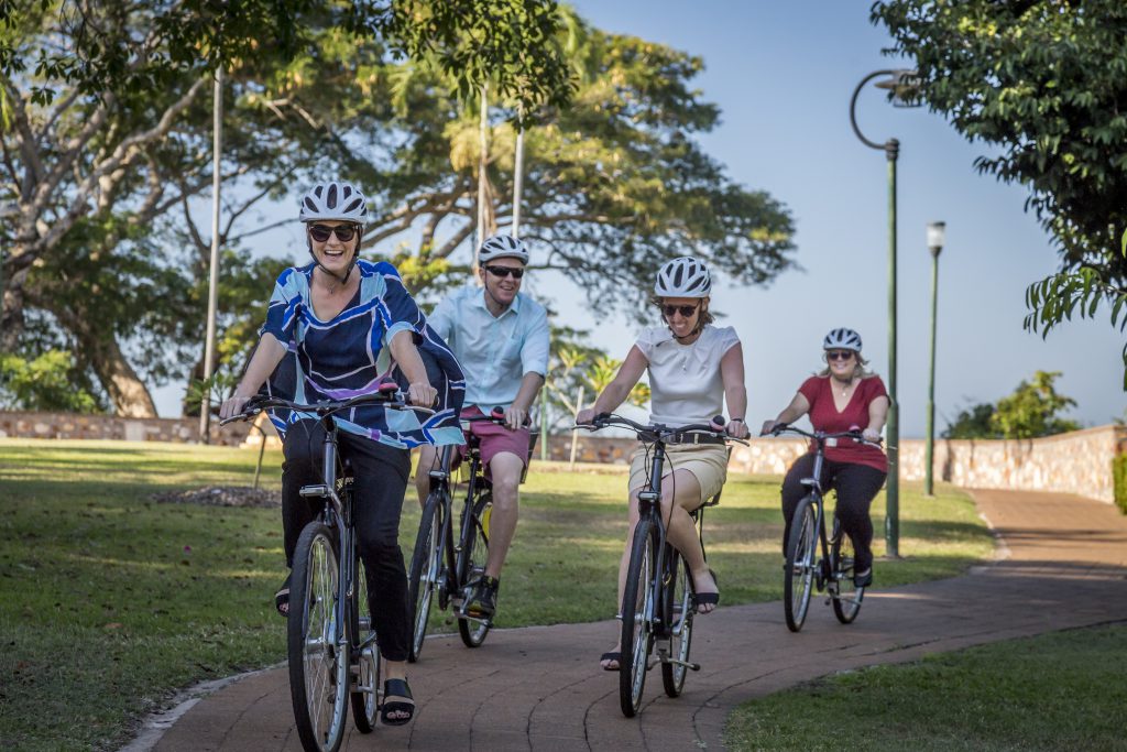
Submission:
[[[33,360],[0,355],[0,408],[7,410],[68,410],[97,413],[98,399],[76,389],[74,357],[51,350]]]

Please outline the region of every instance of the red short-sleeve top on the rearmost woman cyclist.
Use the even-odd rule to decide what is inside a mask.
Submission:
[[[810,425],[815,431],[826,433],[837,433],[841,431],[853,431],[860,428],[864,431],[869,427],[869,406],[878,397],[887,397],[885,382],[880,377],[868,377],[861,379],[850,397],[849,404],[841,413],[834,405],[834,396],[831,391],[829,377],[810,377],[798,391],[806,397],[810,404]],[[810,451],[815,450],[814,442],[810,442]],[[875,446],[860,444],[853,441],[841,441],[836,446],[826,446],[826,459],[834,462],[853,462],[855,465],[868,465],[882,472],[888,472],[888,458]]]

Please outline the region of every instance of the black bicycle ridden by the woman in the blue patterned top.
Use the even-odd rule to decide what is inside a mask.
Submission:
[[[323,498],[325,507],[298,539],[286,619],[290,697],[298,735],[308,752],[339,749],[349,701],[362,734],[373,731],[380,709],[380,655],[353,520],[355,479],[350,466],[339,458],[332,419],[338,412],[371,402],[433,413],[406,402],[389,382],[375,393],[317,405],[252,397],[242,413],[220,422],[225,425],[266,409],[285,408],[316,414],[325,428],[322,483],[301,488],[304,497]]]

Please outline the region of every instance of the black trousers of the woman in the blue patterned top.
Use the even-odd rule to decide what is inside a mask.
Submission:
[[[299,493],[302,486],[322,480],[325,430],[317,421],[302,421],[286,431],[282,465],[282,528],[285,563],[293,567],[293,552],[301,531],[321,511],[325,502]],[[372,623],[380,635],[380,653],[388,661],[406,661],[408,647],[407,570],[399,549],[399,514],[410,474],[410,454],[371,439],[344,431],[337,433],[341,459],[352,462],[356,477],[354,515],[356,540],[367,570]]]

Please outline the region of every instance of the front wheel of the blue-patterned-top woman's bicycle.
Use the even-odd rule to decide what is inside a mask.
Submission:
[[[348,714],[348,636],[337,621],[340,569],[332,531],[320,522],[298,539],[286,623],[290,697],[302,746],[336,752]]]

